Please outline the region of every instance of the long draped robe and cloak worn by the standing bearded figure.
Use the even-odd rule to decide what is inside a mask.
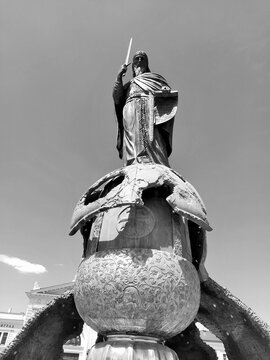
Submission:
[[[124,86],[120,81],[114,85],[117,149],[125,165],[137,161],[169,166],[174,117],[158,124],[154,106],[154,94],[164,86],[170,89],[161,75],[151,72],[134,77]]]

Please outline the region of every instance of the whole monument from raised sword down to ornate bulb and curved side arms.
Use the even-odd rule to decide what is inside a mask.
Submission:
[[[268,325],[208,276],[206,209],[169,167],[178,93],[150,72],[142,51],[123,85],[130,47],[113,90],[125,166],[75,207],[70,235],[81,231],[84,250],[74,291],[30,320],[2,360],[58,360],[82,319],[99,333],[87,360],[217,360],[195,321],[223,342],[229,360],[268,360]]]

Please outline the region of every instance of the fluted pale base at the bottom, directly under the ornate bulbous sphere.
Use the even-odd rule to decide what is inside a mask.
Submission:
[[[178,360],[176,353],[157,339],[139,336],[112,335],[94,345],[87,360]]]

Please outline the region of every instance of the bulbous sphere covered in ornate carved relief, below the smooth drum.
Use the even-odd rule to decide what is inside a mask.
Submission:
[[[166,339],[194,320],[200,284],[194,266],[175,254],[110,249],[82,260],[74,298],[86,324],[102,334]]]

